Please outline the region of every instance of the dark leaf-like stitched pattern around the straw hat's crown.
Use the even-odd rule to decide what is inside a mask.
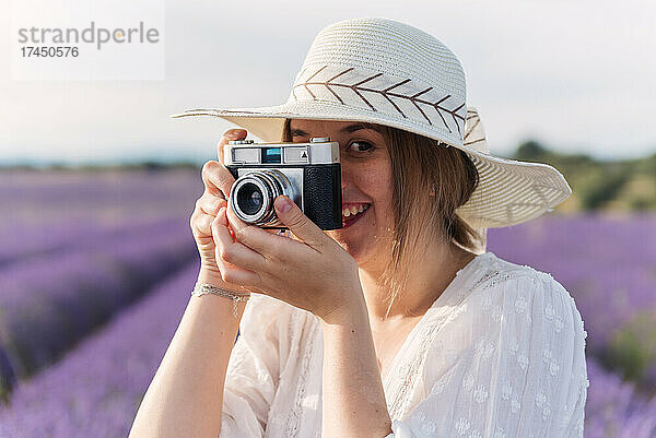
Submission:
[[[447,115],[449,115],[454,122],[456,123],[456,127],[458,128],[458,134],[461,135],[460,132],[460,122],[457,119],[460,119],[462,121],[462,123],[465,122],[465,117],[460,116],[458,114],[458,110],[460,110],[460,108],[462,108],[465,106],[465,103],[460,104],[457,108],[455,109],[448,109],[445,108],[444,106],[442,106],[441,104],[446,100],[447,98],[449,98],[452,95],[447,94],[446,96],[442,97],[441,99],[438,99],[437,102],[429,102],[422,98],[419,98],[419,96],[421,96],[424,93],[430,92],[431,90],[433,90],[432,86],[415,93],[411,96],[407,96],[403,94],[399,94],[399,93],[395,93],[391,90],[396,88],[397,86],[403,85],[408,82],[411,81],[411,79],[406,79],[402,80],[401,82],[398,82],[397,84],[394,84],[391,86],[388,86],[387,88],[384,90],[375,90],[375,88],[370,88],[370,87],[365,87],[362,86],[362,84],[364,84],[365,82],[370,82],[373,79],[376,79],[378,76],[382,76],[383,73],[376,73],[373,74],[355,84],[342,84],[342,83],[337,83],[333,82],[337,78],[350,72],[351,70],[354,70],[353,67],[348,68],[345,70],[343,70],[342,72],[333,75],[332,78],[330,78],[329,80],[325,81],[325,82],[320,82],[320,81],[315,81],[315,82],[311,82],[312,79],[314,76],[316,76],[321,70],[324,70],[325,68],[327,68],[328,66],[324,66],[321,67],[319,70],[317,70],[316,72],[314,72],[309,78],[307,78],[305,80],[305,82],[302,83],[297,83],[292,87],[292,95],[294,96],[295,99],[297,99],[296,97],[296,93],[294,92],[296,90],[296,87],[298,86],[303,86],[308,93],[309,95],[313,97],[313,99],[316,99],[315,94],[309,90],[309,87],[307,85],[323,85],[325,86],[330,93],[332,93],[332,95],[343,105],[345,105],[344,100],[339,96],[339,94],[337,94],[335,92],[335,90],[332,90],[332,87],[335,86],[341,86],[341,87],[345,87],[345,88],[350,88],[353,91],[353,93],[355,93],[373,111],[377,111],[376,107],[374,107],[371,102],[368,102],[361,92],[372,92],[372,93],[378,93],[379,95],[382,95],[383,97],[385,97],[395,108],[397,111],[400,113],[401,116],[403,116],[403,118],[408,118],[408,116],[406,116],[406,114],[403,114],[403,111],[401,110],[401,108],[398,107],[398,105],[390,98],[391,97],[398,97],[398,98],[403,98],[403,99],[408,99],[412,103],[412,105],[414,105],[414,107],[419,110],[419,113],[421,113],[421,115],[426,119],[426,121],[429,122],[429,125],[433,125],[433,121],[429,118],[429,116],[426,116],[426,114],[423,111],[423,109],[421,109],[421,107],[419,106],[419,104],[424,104],[424,105],[429,105],[432,106],[433,108],[435,108],[435,110],[437,111],[437,115],[440,116],[440,118],[442,119],[442,122],[444,123],[444,126],[446,127],[446,129],[448,129],[449,133],[453,133],[452,129],[449,128],[449,126],[446,123],[446,120],[444,119],[444,116],[442,115],[443,113],[446,113]],[[304,72],[304,71],[303,71]],[[303,72],[301,72],[301,74],[303,74]]]

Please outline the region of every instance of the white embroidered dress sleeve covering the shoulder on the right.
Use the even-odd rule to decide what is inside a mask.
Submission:
[[[587,333],[570,293],[531,270],[460,306],[426,353],[423,396],[386,438],[582,438]]]

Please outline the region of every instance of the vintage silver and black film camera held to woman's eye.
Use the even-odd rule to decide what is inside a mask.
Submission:
[[[235,178],[230,203],[244,222],[288,229],[273,200],[288,196],[321,229],[342,227],[339,143],[314,137],[307,143],[230,141],[223,164]]]

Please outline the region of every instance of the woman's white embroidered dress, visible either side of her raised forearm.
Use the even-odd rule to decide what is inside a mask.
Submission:
[[[253,294],[239,331],[220,438],[320,437],[318,319]],[[383,380],[393,434],[380,438],[583,437],[586,335],[549,273],[479,254],[394,358]]]

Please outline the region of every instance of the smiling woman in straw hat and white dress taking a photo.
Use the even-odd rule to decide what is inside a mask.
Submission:
[[[323,232],[285,197],[293,239],[239,221],[223,146],[247,132],[227,131],[191,216],[196,293],[130,437],[583,436],[574,300],[484,252],[487,227],[536,217],[570,187],[488,153],[442,43],[344,20],[317,35],[288,103],[178,117],[194,115],[265,141],[337,141],[344,227]]]

